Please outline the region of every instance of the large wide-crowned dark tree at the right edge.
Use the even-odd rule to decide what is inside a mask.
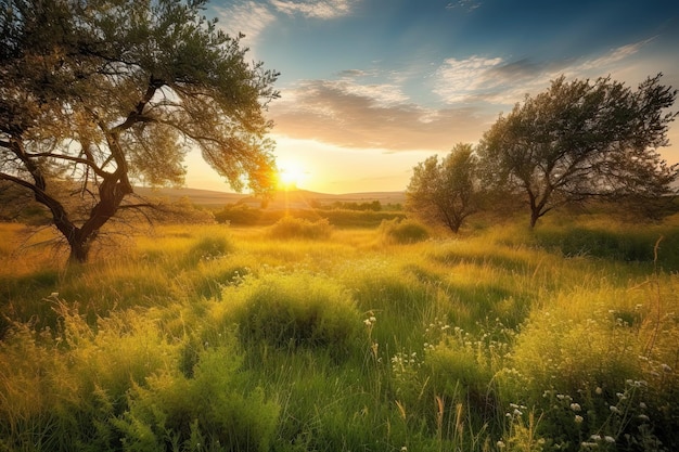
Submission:
[[[530,227],[553,208],[591,199],[655,201],[672,192],[678,167],[657,148],[668,144],[677,91],[648,78],[632,91],[607,78],[564,77],[526,96],[484,134],[478,153],[487,184],[521,194]]]

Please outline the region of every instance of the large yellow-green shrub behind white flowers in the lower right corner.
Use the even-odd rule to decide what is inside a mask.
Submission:
[[[590,302],[595,296],[590,294]],[[585,301],[577,294],[569,298],[572,305]],[[630,324],[625,320],[629,312],[603,304],[590,309],[578,317],[573,306],[553,304],[530,317],[512,352],[513,367],[498,376],[504,401],[542,413],[539,432],[561,450],[606,442],[638,450],[649,441],[671,450],[677,435],[666,419],[679,418],[676,403],[669,402],[677,396],[679,374],[666,363],[676,358],[666,354],[663,341],[644,350],[653,334],[644,332],[650,325],[642,313]],[[676,341],[675,321],[662,322],[653,328]]]

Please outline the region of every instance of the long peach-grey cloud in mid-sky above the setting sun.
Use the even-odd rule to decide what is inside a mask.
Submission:
[[[280,135],[389,152],[447,151],[478,140],[487,126],[471,107],[428,109],[394,87],[348,80],[300,82],[282,92],[270,114]]]

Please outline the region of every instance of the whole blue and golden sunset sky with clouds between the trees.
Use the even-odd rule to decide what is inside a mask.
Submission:
[[[281,169],[321,193],[403,191],[551,80],[679,88],[676,0],[212,0],[206,15],[281,75]],[[675,111],[679,105],[675,105]],[[679,121],[661,150],[679,163]],[[191,154],[187,186],[229,191]]]

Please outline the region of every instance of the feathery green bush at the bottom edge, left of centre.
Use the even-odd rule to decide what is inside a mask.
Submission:
[[[162,373],[136,386],[115,422],[124,450],[270,450],[280,406],[261,388],[242,391],[241,362],[234,346],[207,349],[192,378]]]

